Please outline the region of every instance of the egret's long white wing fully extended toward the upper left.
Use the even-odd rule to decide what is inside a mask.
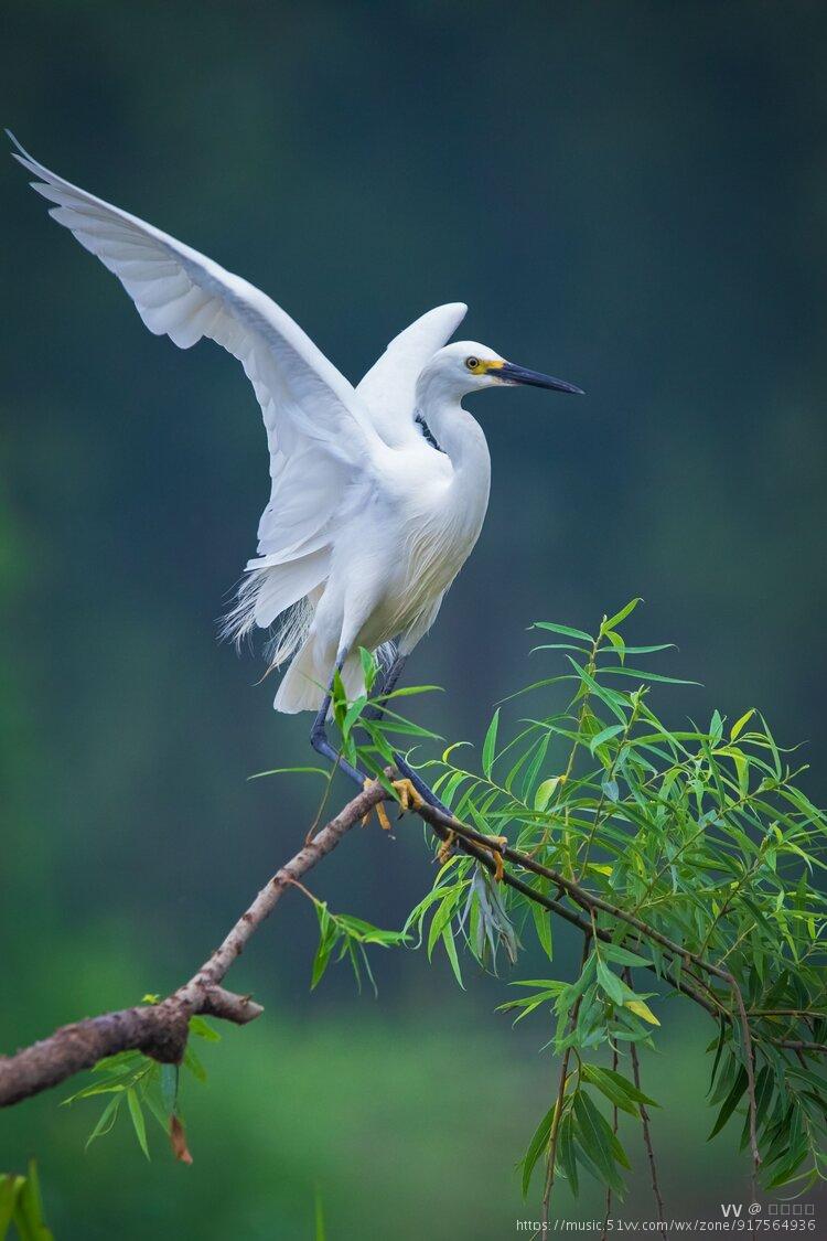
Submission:
[[[206,336],[244,367],[264,414],[273,479],[259,555],[283,563],[324,552],[345,489],[371,472],[381,448],[353,387],[259,289],[64,181],[9,137],[14,158],[37,179],[33,189],[56,204],[50,215],[118,277],[150,331],[181,349]],[[324,576],[324,555],[316,561]]]

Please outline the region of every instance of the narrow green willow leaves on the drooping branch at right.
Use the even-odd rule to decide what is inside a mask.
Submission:
[[[586,1173],[622,1194],[629,1158],[610,1116],[652,1104],[632,1047],[653,1046],[689,1003],[715,1023],[709,1137],[738,1124],[748,1148],[754,1133],[764,1186],[805,1191],[826,1164],[827,820],[756,710],[663,722],[658,686],[688,683],[646,669],[665,647],[626,644],[637,602],[596,634],[538,623],[549,675],[495,712],[479,767],[458,746],[420,767],[461,823],[507,838],[522,859],[507,870],[531,892],[454,851],[405,930],[429,954],[441,946],[460,984],[462,953],[495,968],[518,961],[528,936],[553,964],[557,918],[536,896],[584,931],[578,977],[516,980],[502,1005],[563,1062],[522,1162],[524,1191],[546,1162],[547,1189],[562,1175],[577,1194]],[[413,727],[368,721],[360,745],[363,706],[348,711],[337,716],[345,748],[373,769],[392,759],[393,732]]]

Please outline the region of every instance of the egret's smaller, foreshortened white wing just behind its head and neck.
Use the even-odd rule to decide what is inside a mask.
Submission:
[[[417,380],[436,350],[451,339],[466,313],[465,303],[449,302],[422,315],[393,338],[356,388],[386,444],[397,448],[418,434],[414,426]]]

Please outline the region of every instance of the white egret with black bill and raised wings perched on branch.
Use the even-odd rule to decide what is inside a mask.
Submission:
[[[491,459],[462,398],[516,385],[583,390],[476,341],[450,343],[461,302],[418,318],[352,386],[267,294],[50,171],[6,133],[48,213],[120,280],[151,333],[181,349],[206,338],[241,361],[264,418],[272,486],[223,633],[270,633],[269,664],[286,665],[275,710],[312,711],[314,750],[365,787],[327,735],[335,676],[353,700],[365,692],[360,648],[374,653],[376,700],[387,701],[480,536]],[[396,759],[403,805],[445,810]]]

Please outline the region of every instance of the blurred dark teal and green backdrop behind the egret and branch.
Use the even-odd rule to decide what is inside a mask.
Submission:
[[[410,675],[423,722],[479,742],[537,675],[526,625],[632,632],[703,689],[672,719],[760,706],[825,797],[827,11],[808,2],[217,5],[12,0],[0,120],[60,172],[272,293],[357,379],[439,302],[464,334],[582,383],[480,397],[491,509]],[[150,336],[115,280],[0,164],[0,1046],[179,983],[312,817],[306,724],[216,642],[268,494],[259,412],[210,346]],[[821,769],[820,769],[821,768]],[[347,789],[340,788],[343,797]],[[430,882],[405,824],[314,874],[396,927]],[[307,994],[315,918],[279,908],[232,975],[267,1005],[205,1059],[195,1164],[61,1093],[2,1114],[60,1239],[495,1239],[537,1217],[513,1164],[548,1104],[537,1019],[443,961],[376,961]],[[573,968],[560,937],[560,974]],[[521,970],[536,965],[528,961]],[[531,977],[531,973],[528,973]],[[662,1006],[647,1088],[668,1205],[746,1194],[710,1147],[698,1052]],[[157,1137],[160,1138],[160,1131]],[[640,1164],[640,1150],[637,1163]],[[560,1214],[589,1217],[603,1194]],[[651,1215],[646,1175],[632,1217]]]

